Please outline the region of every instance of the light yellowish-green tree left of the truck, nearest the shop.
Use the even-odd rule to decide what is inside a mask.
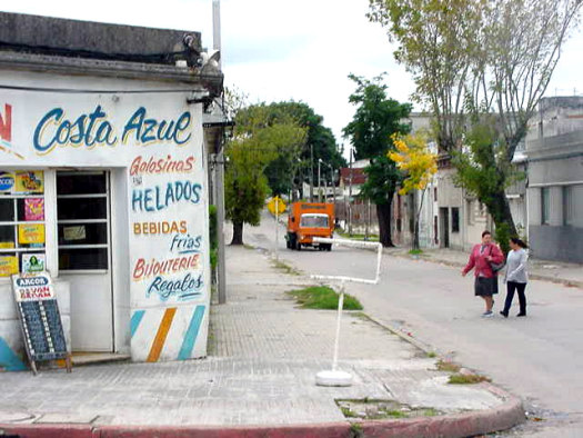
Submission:
[[[299,148],[305,140],[305,129],[290,119],[271,120],[264,104],[239,110],[235,123],[225,153],[225,216],[233,222],[231,245],[242,245],[243,225],[260,223],[269,193],[265,168],[281,153]]]

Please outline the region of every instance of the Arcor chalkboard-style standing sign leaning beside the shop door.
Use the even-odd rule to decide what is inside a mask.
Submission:
[[[59,305],[49,272],[13,275],[12,289],[32,372],[37,361],[63,359],[71,372]]]

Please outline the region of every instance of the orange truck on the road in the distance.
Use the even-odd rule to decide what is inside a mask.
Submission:
[[[318,247],[319,250],[332,250],[332,243],[314,243],[314,237],[332,238],[334,233],[334,205],[323,202],[294,202],[288,216],[289,249]]]

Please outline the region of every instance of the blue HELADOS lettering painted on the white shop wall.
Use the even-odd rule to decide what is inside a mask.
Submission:
[[[133,211],[160,211],[173,203],[199,203],[202,186],[192,181],[170,181],[165,187],[132,190]]]

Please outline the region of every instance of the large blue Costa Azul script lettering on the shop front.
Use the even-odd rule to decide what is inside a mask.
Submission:
[[[187,143],[192,118],[184,111],[175,120],[147,118],[147,109],[140,107],[128,119],[121,135],[121,142],[135,141],[138,146],[155,142],[172,142],[177,146]],[[62,108],[53,108],[37,125],[33,147],[39,155],[51,152],[57,146],[88,149],[96,147],[115,147],[118,143],[115,127],[108,120],[107,112],[100,104],[92,112],[83,113],[77,119],[68,119]]]

